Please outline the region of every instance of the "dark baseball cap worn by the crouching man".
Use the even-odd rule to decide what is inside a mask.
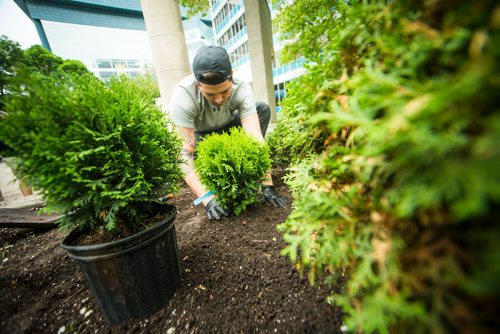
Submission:
[[[220,75],[210,76],[205,73],[215,72]],[[233,69],[226,49],[220,46],[204,46],[198,49],[193,60],[193,74],[196,80],[208,85],[218,85],[231,78]]]

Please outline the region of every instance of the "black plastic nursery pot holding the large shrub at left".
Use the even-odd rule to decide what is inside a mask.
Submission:
[[[121,240],[74,245],[84,232],[73,231],[62,242],[79,264],[110,324],[155,313],[179,286],[176,209],[171,205],[163,209],[166,216],[159,224]]]

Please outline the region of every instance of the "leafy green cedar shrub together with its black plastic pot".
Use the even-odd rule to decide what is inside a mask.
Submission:
[[[154,95],[120,77],[23,71],[9,84],[0,137],[46,210],[72,232],[77,260],[112,324],[151,314],[180,282],[176,209],[180,141]]]

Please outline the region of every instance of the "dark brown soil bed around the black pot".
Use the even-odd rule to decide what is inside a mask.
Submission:
[[[275,180],[281,194],[286,186]],[[179,213],[182,280],[157,313],[108,325],[57,229],[0,229],[2,333],[340,333],[341,312],[311,287],[276,231],[290,205],[260,205],[240,217],[209,221],[183,189]],[[0,209],[1,210],[1,209]]]

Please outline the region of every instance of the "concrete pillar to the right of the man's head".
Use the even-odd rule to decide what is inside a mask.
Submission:
[[[248,31],[248,50],[252,67],[252,85],[256,101],[271,108],[271,123],[276,120],[273,84],[273,30],[271,11],[266,0],[244,0]]]

